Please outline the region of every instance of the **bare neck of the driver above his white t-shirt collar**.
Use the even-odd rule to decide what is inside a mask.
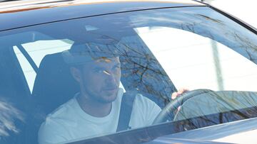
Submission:
[[[101,103],[94,99],[90,99],[89,96],[86,96],[85,94],[79,94],[79,96],[76,97],[76,100],[81,109],[91,116],[104,117],[111,112],[111,103]]]

